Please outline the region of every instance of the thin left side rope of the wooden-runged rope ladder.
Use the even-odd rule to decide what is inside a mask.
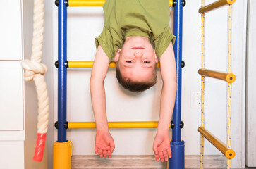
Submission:
[[[205,6],[205,0],[202,0],[202,7]],[[201,68],[205,68],[205,13],[201,14],[202,20],[202,63]],[[201,76],[201,127],[205,127],[205,76]],[[204,144],[205,137],[200,134],[200,169],[204,168]]]

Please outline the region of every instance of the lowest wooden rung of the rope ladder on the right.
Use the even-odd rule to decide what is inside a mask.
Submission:
[[[226,156],[226,158],[234,158],[236,156],[235,151],[233,149],[226,148],[226,145],[221,142],[217,137],[214,137],[213,134],[208,132],[204,127],[199,127],[198,132],[202,134],[203,137],[205,137],[209,142],[212,143],[219,151],[221,151],[222,154]]]

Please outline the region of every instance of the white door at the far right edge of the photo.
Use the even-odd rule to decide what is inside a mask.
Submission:
[[[256,167],[256,1],[248,1],[246,165]]]

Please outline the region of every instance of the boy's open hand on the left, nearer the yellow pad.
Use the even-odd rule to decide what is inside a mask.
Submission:
[[[95,137],[95,154],[100,157],[108,156],[111,158],[111,154],[115,149],[114,139],[109,132],[97,131]]]

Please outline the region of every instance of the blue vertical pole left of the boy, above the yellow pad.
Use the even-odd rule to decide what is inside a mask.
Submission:
[[[58,6],[58,140],[57,142],[66,142],[66,82],[67,82],[67,69],[64,63],[67,60],[67,6],[65,0],[59,0]]]

